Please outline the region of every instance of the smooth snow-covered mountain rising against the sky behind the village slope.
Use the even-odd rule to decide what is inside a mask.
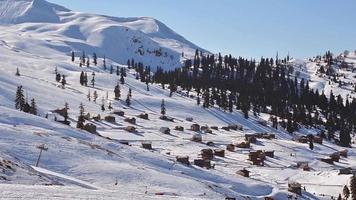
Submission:
[[[69,54],[85,51],[126,64],[128,59],[157,66],[176,68],[194,55],[198,46],[152,18],[115,18],[73,12],[44,0],[1,0],[0,24],[11,33],[17,32],[23,43]],[[4,37],[4,35],[3,35]],[[31,48],[22,48],[32,52]],[[38,52],[32,52],[38,53]]]

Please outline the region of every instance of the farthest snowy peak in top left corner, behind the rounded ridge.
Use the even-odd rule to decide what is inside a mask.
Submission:
[[[58,23],[57,11],[69,10],[44,0],[0,0],[0,24]]]

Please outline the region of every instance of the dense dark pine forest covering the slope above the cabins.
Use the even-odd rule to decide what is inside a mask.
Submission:
[[[203,55],[197,50],[194,59],[186,60],[182,68],[157,68],[152,81],[163,88],[169,85],[171,94],[177,86],[188,93],[194,90],[197,104],[204,108],[241,110],[246,118],[249,112],[269,113],[273,127],[280,125],[290,133],[300,125],[324,126],[326,137],[350,146],[350,133],[356,128],[356,99],[344,100],[333,92],[327,98],[323,92],[312,90],[308,81],[291,76],[293,68],[288,60],[261,58],[257,62],[231,55]],[[335,137],[336,132],[339,138]]]

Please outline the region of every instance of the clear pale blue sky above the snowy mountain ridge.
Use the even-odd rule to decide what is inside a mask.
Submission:
[[[355,0],[49,1],[75,11],[154,17],[202,48],[234,56],[356,50]]]

